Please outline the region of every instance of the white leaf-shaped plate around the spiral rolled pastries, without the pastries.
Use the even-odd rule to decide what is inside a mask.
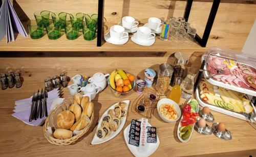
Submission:
[[[96,132],[95,132],[95,135],[94,135],[94,138],[93,138],[91,144],[101,144],[101,143],[110,141],[111,139],[113,139],[114,137],[116,137],[116,136],[118,135],[118,133],[122,130],[122,128],[123,128],[123,126],[124,126],[124,124],[125,124],[125,122],[126,122],[126,117],[127,117],[127,113],[128,113],[128,106],[129,106],[130,100],[124,100],[124,101],[122,101],[122,102],[125,102],[125,103],[127,104],[126,107],[125,107],[125,109],[126,109],[126,116],[121,119],[121,123],[120,123],[120,126],[118,127],[118,129],[117,129],[116,131],[111,131],[110,136],[109,136],[109,137],[106,137],[106,138],[104,138],[104,139],[98,138],[98,137],[97,137],[97,134],[96,134],[96,133],[97,133],[97,130],[98,130],[98,129],[100,128],[100,126],[101,126],[103,117],[106,116],[106,115],[108,115],[108,110],[109,110],[109,109],[114,109],[114,108],[115,108],[115,105],[117,105],[119,102],[115,103],[115,104],[112,105],[110,108],[108,108],[108,109],[104,112],[104,114],[101,116],[101,118],[100,118],[100,120],[99,120],[99,123],[98,123],[98,126],[97,126],[97,130],[96,130]]]

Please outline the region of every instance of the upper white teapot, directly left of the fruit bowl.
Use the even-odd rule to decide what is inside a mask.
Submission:
[[[102,74],[102,73],[95,73],[93,77],[88,79],[88,82],[93,83],[94,85],[100,87],[100,91],[102,91],[106,87],[106,77],[110,74]]]

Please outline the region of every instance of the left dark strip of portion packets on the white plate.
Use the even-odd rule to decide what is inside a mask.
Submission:
[[[129,144],[134,145],[136,147],[139,146],[140,142],[140,121],[132,120],[131,127],[130,127],[130,133],[129,133]]]

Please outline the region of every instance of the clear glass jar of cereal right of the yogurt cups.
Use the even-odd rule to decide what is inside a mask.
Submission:
[[[166,94],[168,92],[173,72],[174,70],[169,64],[160,64],[156,83],[156,90],[159,94]]]

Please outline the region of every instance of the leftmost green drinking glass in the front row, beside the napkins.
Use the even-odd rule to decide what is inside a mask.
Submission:
[[[28,20],[27,26],[32,39],[39,39],[44,35],[44,25],[37,25],[36,20]]]

